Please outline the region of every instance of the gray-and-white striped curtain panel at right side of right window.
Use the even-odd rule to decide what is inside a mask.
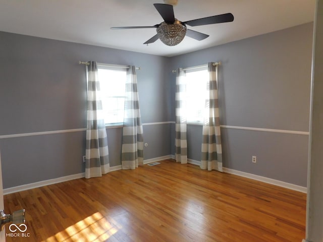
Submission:
[[[209,80],[206,88],[202,131],[201,169],[222,171],[222,145],[218,104],[218,65],[208,63]]]

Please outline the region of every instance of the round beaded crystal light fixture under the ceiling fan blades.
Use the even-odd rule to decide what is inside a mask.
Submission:
[[[156,29],[157,36],[166,45],[174,46],[182,42],[186,34],[186,26],[175,22],[174,24],[161,23]]]

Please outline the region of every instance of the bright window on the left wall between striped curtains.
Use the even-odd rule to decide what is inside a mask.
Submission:
[[[122,125],[127,69],[98,65],[105,125]]]

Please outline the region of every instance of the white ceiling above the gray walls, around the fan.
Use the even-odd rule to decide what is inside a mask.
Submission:
[[[163,0],[0,0],[0,31],[174,56],[313,21],[315,0],[179,0],[175,18],[188,21],[232,13],[231,23],[189,27],[210,35],[177,46],[143,43],[155,29],[111,30],[163,22],[154,3]]]

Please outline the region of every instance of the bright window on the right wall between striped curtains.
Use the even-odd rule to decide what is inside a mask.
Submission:
[[[186,72],[186,105],[187,123],[203,124],[206,83],[208,72],[206,69],[188,70]]]

